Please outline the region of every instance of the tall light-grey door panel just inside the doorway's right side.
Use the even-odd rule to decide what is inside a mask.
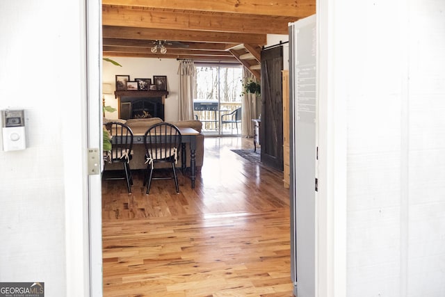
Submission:
[[[316,296],[316,16],[290,26],[292,280]]]

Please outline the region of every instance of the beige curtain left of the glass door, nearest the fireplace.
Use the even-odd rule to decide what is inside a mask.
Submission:
[[[194,120],[193,97],[195,96],[196,67],[193,61],[181,61],[179,74],[179,120]]]

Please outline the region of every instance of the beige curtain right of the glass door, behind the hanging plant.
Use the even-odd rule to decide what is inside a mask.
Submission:
[[[243,67],[243,83],[247,83],[248,81],[257,81],[257,79],[253,76],[253,74],[246,70],[245,67]],[[258,81],[257,81],[258,82]],[[257,115],[257,95],[252,93],[246,93],[243,88],[243,113],[241,117],[241,136],[245,137],[253,137],[253,125],[252,125],[252,119],[258,118]]]

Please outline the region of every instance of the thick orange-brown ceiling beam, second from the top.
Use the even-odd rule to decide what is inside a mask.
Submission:
[[[227,20],[230,20],[229,22]],[[234,15],[227,13],[178,13],[175,10],[147,10],[102,6],[102,24],[157,29],[188,29],[238,33],[288,34],[296,17]]]

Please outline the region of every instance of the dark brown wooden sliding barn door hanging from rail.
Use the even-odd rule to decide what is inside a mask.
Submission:
[[[283,170],[283,47],[261,51],[261,162]]]

